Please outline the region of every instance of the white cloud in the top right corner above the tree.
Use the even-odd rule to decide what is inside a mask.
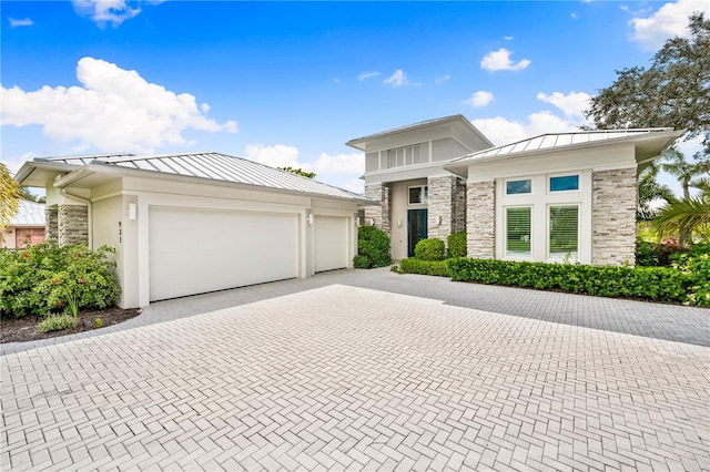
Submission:
[[[693,12],[704,12],[710,16],[710,2],[707,0],[678,0],[662,6],[650,17],[633,18],[629,24],[633,29],[631,39],[646,50],[657,50],[667,39],[688,38],[690,31],[688,18]]]

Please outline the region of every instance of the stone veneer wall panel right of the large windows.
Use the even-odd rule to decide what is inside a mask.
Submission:
[[[591,264],[633,266],[638,206],[636,168],[595,172],[591,186]]]

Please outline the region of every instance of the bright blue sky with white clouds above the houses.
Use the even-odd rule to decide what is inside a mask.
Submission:
[[[346,141],[457,113],[495,144],[575,130],[692,11],[710,2],[2,1],[2,161],[216,151],[359,192]]]

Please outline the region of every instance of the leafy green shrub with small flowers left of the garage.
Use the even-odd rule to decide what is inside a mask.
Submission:
[[[119,298],[115,250],[51,243],[0,252],[0,312],[14,317],[103,309]]]

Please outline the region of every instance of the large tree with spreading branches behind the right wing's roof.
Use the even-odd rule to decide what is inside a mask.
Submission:
[[[682,140],[703,137],[697,162],[710,166],[710,20],[690,17],[690,38],[672,38],[649,69],[617,71],[586,112],[600,130],[672,126]]]

